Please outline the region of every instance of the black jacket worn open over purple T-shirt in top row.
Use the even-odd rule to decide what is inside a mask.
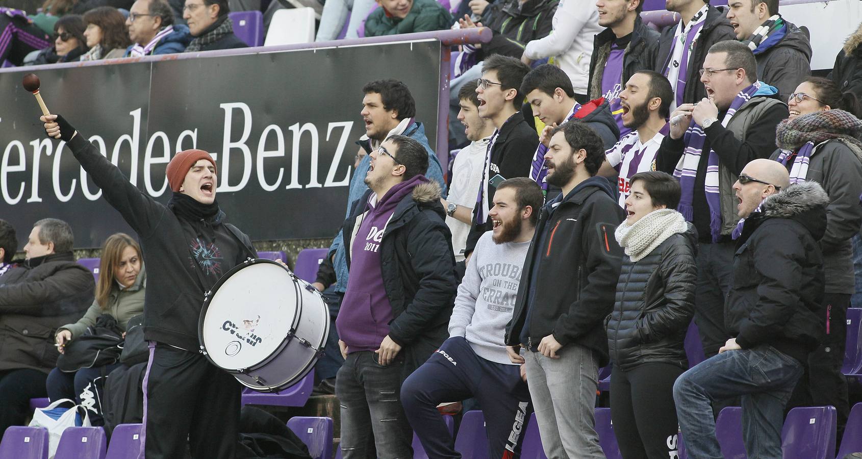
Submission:
[[[590,100],[597,99],[603,94],[604,65],[610,55],[610,45],[615,39],[614,31],[610,28],[605,28],[593,39],[593,53],[590,58],[590,84],[587,85],[587,90],[590,91],[588,95]],[[634,20],[632,40],[628,42],[622,59],[622,82],[620,82],[622,86],[625,86],[628,78],[632,78],[634,73],[641,70],[653,70],[658,53],[659,33],[648,28],[640,16],[637,16]]]

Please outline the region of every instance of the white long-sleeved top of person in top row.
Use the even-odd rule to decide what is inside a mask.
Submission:
[[[572,80],[578,94],[586,94],[590,79],[593,39],[604,28],[598,25],[598,10],[591,0],[560,0],[551,20],[553,31],[524,48],[529,59],[554,58]]]

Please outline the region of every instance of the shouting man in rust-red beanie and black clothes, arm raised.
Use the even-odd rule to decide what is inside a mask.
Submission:
[[[48,136],[65,140],[111,207],[138,233],[147,264],[141,455],[234,457],[240,423],[240,382],[209,363],[199,349],[203,295],[247,257],[251,240],[215,201],[215,161],[203,150],[178,152],[168,163],[173,195],[167,205],[144,194],[87,136],[59,115],[42,116]],[[241,307],[241,305],[237,305]]]

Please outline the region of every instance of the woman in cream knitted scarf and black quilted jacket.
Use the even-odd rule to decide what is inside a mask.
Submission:
[[[689,368],[683,343],[694,316],[696,234],[674,208],[679,181],[665,172],[634,174],[625,251],[614,311],[606,319],[610,415],[623,459],[667,459],[678,452],[673,382]]]

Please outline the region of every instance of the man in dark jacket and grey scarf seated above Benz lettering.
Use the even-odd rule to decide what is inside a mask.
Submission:
[[[228,0],[186,0],[183,19],[189,24],[194,40],[185,48],[185,53],[248,47],[234,35],[229,12]]]

